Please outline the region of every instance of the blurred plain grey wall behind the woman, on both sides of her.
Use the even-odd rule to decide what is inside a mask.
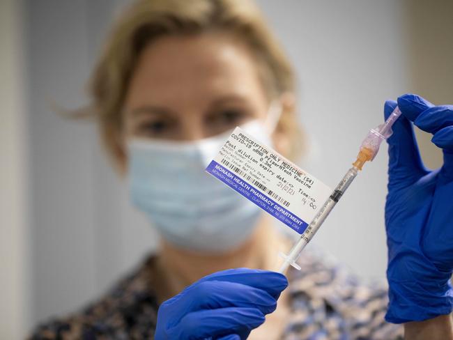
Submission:
[[[24,2],[31,217],[30,323],[82,307],[155,247],[128,206],[95,127],[52,111],[86,104],[84,84],[125,0]],[[400,1],[259,0],[300,78],[302,167],[334,187],[387,98],[411,91]],[[385,275],[386,147],[315,242],[364,279]]]

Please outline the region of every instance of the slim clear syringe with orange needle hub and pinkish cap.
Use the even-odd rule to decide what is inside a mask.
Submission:
[[[357,155],[357,160],[353,162],[353,167],[346,172],[346,175],[344,175],[343,179],[341,179],[335,190],[332,194],[330,194],[327,201],[325,201],[323,206],[316,213],[312,219],[312,222],[310,222],[307,226],[307,229],[305,229],[304,233],[302,233],[299,240],[295,242],[289,254],[285,255],[280,253],[280,255],[284,258],[284,263],[282,263],[279,272],[285,272],[289,265],[292,265],[297,270],[300,270],[300,266],[296,263],[300,253],[305,246],[307,246],[308,242],[312,240],[313,235],[321,227],[325,219],[330,214],[330,211],[332,211],[332,209],[337,205],[339,199],[341,199],[341,196],[343,196],[349,185],[351,185],[355,176],[357,176],[358,171],[362,170],[365,162],[374,160],[382,141],[392,135],[392,125],[395,121],[397,121],[400,115],[401,111],[399,111],[399,108],[396,107],[383,124],[369,130],[367,137],[365,137],[360,145],[360,151]]]

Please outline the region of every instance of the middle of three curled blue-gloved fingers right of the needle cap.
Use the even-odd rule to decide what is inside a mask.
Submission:
[[[435,134],[443,127],[453,125],[453,105],[429,107],[415,118],[414,124],[423,131]]]

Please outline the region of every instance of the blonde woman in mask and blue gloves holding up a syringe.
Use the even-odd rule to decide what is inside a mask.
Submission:
[[[92,107],[132,202],[162,236],[160,249],[108,295],[40,326],[33,339],[398,339],[401,323],[408,339],[453,339],[451,107],[398,100],[404,117],[389,139],[386,205],[389,302],[387,291],[309,253],[285,290],[286,277],[266,270],[288,249],[285,238],[204,173],[236,125],[297,155],[294,93],[291,67],[249,1],[133,3],[93,72]],[[386,102],[385,115],[396,105]],[[410,121],[434,134],[442,169],[424,169]]]

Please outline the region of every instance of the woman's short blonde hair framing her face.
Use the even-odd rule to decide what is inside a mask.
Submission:
[[[166,35],[231,32],[256,57],[269,99],[294,93],[293,70],[261,12],[249,0],[139,0],[116,20],[98,63],[89,94],[109,153],[121,148],[121,109],[142,49]],[[284,112],[279,126],[290,134],[290,155],[298,153],[300,133],[294,112]]]

